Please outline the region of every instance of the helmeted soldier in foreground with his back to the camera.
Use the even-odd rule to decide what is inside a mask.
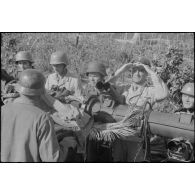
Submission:
[[[53,121],[40,99],[45,78],[36,70],[21,73],[16,90],[20,97],[1,110],[2,162],[63,162],[67,148],[75,142],[66,138],[59,145]]]

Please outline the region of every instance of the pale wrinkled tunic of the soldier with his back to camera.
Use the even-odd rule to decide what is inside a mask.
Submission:
[[[18,98],[2,107],[2,162],[57,162],[65,156],[53,122],[39,102]]]

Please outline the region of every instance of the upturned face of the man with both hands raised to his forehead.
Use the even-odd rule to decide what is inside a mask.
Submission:
[[[147,72],[145,71],[144,67],[136,67],[132,70],[133,75],[133,82],[137,84],[142,84],[146,81],[147,78]]]

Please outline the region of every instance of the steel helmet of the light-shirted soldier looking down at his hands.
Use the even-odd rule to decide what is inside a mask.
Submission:
[[[57,65],[57,64],[65,64],[68,65],[68,58],[67,55],[63,51],[56,51],[51,54],[50,58],[50,64],[51,65]]]

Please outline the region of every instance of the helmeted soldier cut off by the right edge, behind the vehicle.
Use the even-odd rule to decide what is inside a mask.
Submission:
[[[182,90],[182,108],[175,113],[194,114],[194,83],[186,83]]]

